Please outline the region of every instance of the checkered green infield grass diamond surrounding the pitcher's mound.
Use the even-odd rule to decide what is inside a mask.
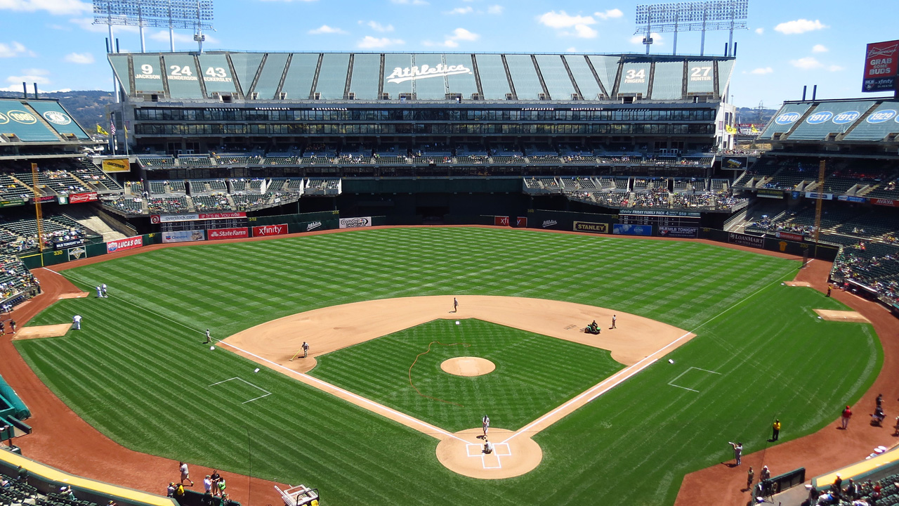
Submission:
[[[416,361],[432,341],[468,346],[434,344]],[[441,362],[451,357],[486,358],[496,369],[450,375]],[[430,321],[316,360],[311,375],[450,432],[479,427],[485,414],[495,428],[521,429],[623,367],[605,349],[475,319]],[[422,394],[409,384],[413,363]]]

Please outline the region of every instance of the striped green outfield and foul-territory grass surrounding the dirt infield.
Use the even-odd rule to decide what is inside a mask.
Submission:
[[[724,461],[726,441],[763,448],[820,429],[882,363],[870,325],[818,320],[844,309],[779,281],[798,263],[698,243],[532,230],[359,230],[166,248],[65,271],[111,298],[60,301],[32,321],[84,316],[66,338],[16,341],[80,416],[121,444],[322,490],[328,504],[665,504],[683,474]],[[410,295],[518,295],[609,307],[693,330],[675,350],[540,432],[541,465],[481,481],[437,462],[437,441],[218,348],[263,321],[338,303]],[[668,383],[681,376],[691,392]],[[241,377],[272,394],[242,404]],[[407,378],[404,378],[407,381]],[[535,492],[535,491],[539,491]]]

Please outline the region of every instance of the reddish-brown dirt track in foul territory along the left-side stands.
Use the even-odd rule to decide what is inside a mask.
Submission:
[[[40,279],[43,293],[15,309],[12,317],[20,327],[58,299],[82,294],[65,277],[48,269],[32,272]],[[22,447],[22,456],[85,478],[165,495],[165,486],[177,481],[178,463],[122,447],[78,417],[34,374],[13,347],[12,338],[10,334],[0,338],[0,357],[3,357],[0,375],[31,410],[31,419],[27,423],[34,432],[15,439],[15,444]],[[202,491],[202,477],[210,472],[206,467],[191,465],[191,478],[197,483],[194,490],[199,487]],[[249,478],[242,474],[219,474],[227,480],[227,491],[236,501],[245,505],[277,505],[281,502],[272,488],[278,483],[254,478],[251,498]]]

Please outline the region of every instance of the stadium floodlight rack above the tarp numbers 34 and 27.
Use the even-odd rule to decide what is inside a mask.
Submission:
[[[653,43],[653,32],[674,32],[677,54],[678,32],[702,32],[699,54],[706,51],[706,31],[730,30],[727,48],[734,52],[734,30],[745,30],[749,17],[749,0],[706,0],[636,6],[636,33],[645,33],[646,54]]]

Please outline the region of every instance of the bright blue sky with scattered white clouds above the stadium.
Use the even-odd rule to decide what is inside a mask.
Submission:
[[[642,2],[640,2],[642,3]],[[895,0],[750,0],[748,30],[734,32],[732,102],[777,108],[818,85],[818,98],[862,94],[865,46],[899,39]],[[218,0],[204,50],[339,50],[644,53],[635,1],[594,0]],[[853,8],[852,5],[856,5]],[[115,27],[120,50],[140,50],[136,27]],[[81,0],[0,0],[0,89],[111,90],[105,25]],[[728,33],[708,32],[707,55]],[[672,33],[652,52],[671,54]],[[168,32],[146,29],[147,50],[167,51]],[[678,35],[679,54],[699,54],[699,32]],[[175,50],[196,50],[175,32]],[[883,95],[883,94],[880,94]]]

